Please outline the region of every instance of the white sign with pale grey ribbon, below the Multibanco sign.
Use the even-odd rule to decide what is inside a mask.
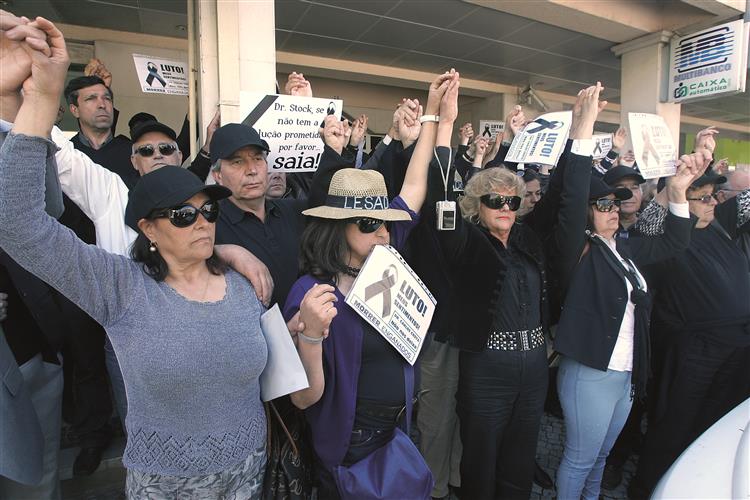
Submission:
[[[664,118],[650,113],[628,113],[630,140],[644,179],[674,175],[676,151]]]

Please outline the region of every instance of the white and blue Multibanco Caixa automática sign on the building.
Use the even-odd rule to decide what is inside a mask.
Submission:
[[[674,39],[669,61],[669,101],[744,92],[747,38],[740,19]]]

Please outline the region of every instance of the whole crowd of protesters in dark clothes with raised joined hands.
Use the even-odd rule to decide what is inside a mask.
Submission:
[[[46,19],[0,11],[0,64],[0,498],[60,498],[63,367],[76,473],[114,407],[128,499],[527,499],[551,399],[557,497],[599,498],[642,440],[628,492],[647,498],[750,397],[750,174],[714,161],[715,128],[658,183],[625,129],[594,161],[597,82],[556,164],[520,165],[523,109],[475,137],[451,69],[370,154],[366,116],[328,116],[317,171],[286,175],[218,113],[189,165],[186,126],[138,113],[115,135],[112,75],[92,61],[66,86]],[[313,95],[298,73],[285,91]],[[414,366],[345,303],[386,244],[437,299]],[[309,386],[269,405],[273,305]]]

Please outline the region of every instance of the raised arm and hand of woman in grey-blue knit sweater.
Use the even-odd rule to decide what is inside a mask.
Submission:
[[[43,46],[24,46],[32,58],[31,76],[23,84],[13,132],[0,150],[0,246],[107,326],[126,311],[142,273],[124,257],[86,245],[44,213],[44,165],[54,150],[47,137],[69,59],[62,33],[52,23],[37,18],[33,25],[48,38]]]

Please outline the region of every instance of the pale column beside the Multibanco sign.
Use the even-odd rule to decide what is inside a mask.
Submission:
[[[652,33],[612,48],[622,60],[620,81],[620,122],[628,123],[628,113],[653,113],[667,122],[674,144],[680,144],[680,104],[667,100],[669,40],[672,33]]]

